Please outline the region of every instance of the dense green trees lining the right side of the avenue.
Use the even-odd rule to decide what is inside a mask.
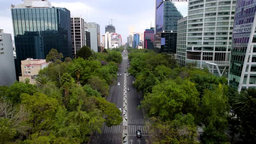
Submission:
[[[244,141],[255,141],[256,92],[239,95],[227,85],[226,78],[195,69],[193,64],[178,67],[171,55],[147,49],[130,51],[128,71],[136,77],[133,85],[143,94],[141,107],[149,117],[154,142],[194,143],[198,128],[203,129],[202,142],[206,144],[233,142],[228,137],[239,132]],[[231,106],[235,108],[233,115]]]

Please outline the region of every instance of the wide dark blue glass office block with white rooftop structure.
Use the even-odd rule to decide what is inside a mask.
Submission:
[[[51,49],[72,58],[70,11],[48,0],[23,2],[11,8],[18,72],[21,60],[46,59]]]

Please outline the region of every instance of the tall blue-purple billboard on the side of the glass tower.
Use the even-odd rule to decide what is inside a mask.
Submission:
[[[156,10],[156,33],[163,30],[164,24],[164,3]]]

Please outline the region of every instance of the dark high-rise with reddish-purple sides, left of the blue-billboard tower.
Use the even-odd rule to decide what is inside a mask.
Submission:
[[[153,49],[154,29],[145,29],[144,31],[144,49]]]

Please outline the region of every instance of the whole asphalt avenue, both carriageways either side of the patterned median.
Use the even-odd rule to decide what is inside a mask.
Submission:
[[[127,53],[127,52],[125,52]],[[124,52],[122,53],[124,55]],[[124,76],[125,61],[128,56],[123,56],[123,61],[118,67],[118,80],[115,84],[110,86],[109,95],[107,101],[114,103],[117,108],[121,108],[123,111],[123,94],[124,94]],[[126,66],[128,67],[128,61]],[[128,70],[128,69],[127,69]],[[127,72],[128,73],[128,72]],[[136,88],[132,86],[132,81],[135,78],[131,75],[127,77],[127,88],[130,91],[127,92],[127,105],[128,105],[128,144],[150,144],[148,137],[148,128],[144,123],[144,114],[141,109],[137,108],[137,104],[140,104],[141,97]],[[120,82],[120,86],[117,83]],[[102,126],[102,133],[94,132],[92,134],[89,144],[122,144],[122,123],[118,126],[107,127],[105,124]],[[136,137],[136,130],[141,130],[142,137]]]

